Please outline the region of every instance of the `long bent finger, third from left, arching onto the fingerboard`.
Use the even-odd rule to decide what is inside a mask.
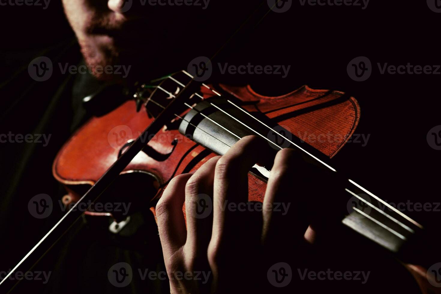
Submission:
[[[259,157],[268,156],[271,148],[255,136],[239,140],[216,164],[213,183],[213,231],[208,248],[208,261],[213,272],[213,285],[226,287],[231,277],[247,279],[249,259],[259,249],[260,232],[250,230],[248,172]],[[259,214],[262,219],[261,214]],[[255,258],[254,258],[255,259]],[[223,271],[224,270],[224,271]],[[228,272],[228,275],[221,273]]]

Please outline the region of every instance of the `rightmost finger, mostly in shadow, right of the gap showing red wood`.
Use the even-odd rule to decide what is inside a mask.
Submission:
[[[301,155],[294,149],[282,149],[277,153],[263,200],[264,243],[277,242],[279,246],[289,247],[303,239],[310,223],[305,201],[308,189],[300,176],[304,165]]]

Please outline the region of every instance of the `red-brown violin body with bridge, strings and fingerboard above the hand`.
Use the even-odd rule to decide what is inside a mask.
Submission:
[[[263,97],[250,86],[219,85],[213,88],[203,85],[191,94],[157,134],[151,138],[142,134],[143,128],[158,119],[164,105],[178,95],[190,80],[187,71],[181,71],[164,78],[157,86],[142,84],[134,93],[136,100],[127,101],[106,115],[93,117],[78,130],[60,150],[52,167],[54,177],[68,191],[63,198],[64,204],[78,202],[83,186],[93,186],[138,136],[141,141],[148,140],[148,144],[120,176],[144,178],[146,185],[150,185],[144,188],[153,191],[146,196],[146,201],[154,212],[155,201],[174,176],[195,171],[211,157],[224,154],[236,141],[250,134],[264,138],[274,149],[296,144],[313,160],[334,171],[322,157],[333,157],[359,122],[357,100],[342,92],[303,86],[284,96]],[[147,90],[150,87],[154,87],[153,93]],[[148,97],[146,93],[149,93]],[[143,111],[137,107],[140,101]],[[314,123],[305,127],[307,122]],[[313,146],[306,146],[293,136],[292,130],[318,137],[324,130],[332,135],[343,135],[340,142],[321,143],[319,140]],[[307,150],[311,147],[323,154],[315,156],[312,150],[309,153]],[[95,151],[84,152],[92,149]],[[263,201],[268,175],[269,171],[259,166],[250,173],[250,189],[255,190],[250,195],[250,201]],[[109,216],[108,213],[85,213]],[[119,215],[112,217],[122,221]]]

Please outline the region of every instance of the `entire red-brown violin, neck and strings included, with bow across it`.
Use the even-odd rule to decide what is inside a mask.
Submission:
[[[72,135],[52,166],[54,177],[68,192],[62,201],[71,209],[28,257],[42,254],[46,248],[41,244],[53,240],[52,235],[60,238],[81,217],[82,211],[75,208],[96,201],[101,194],[106,200],[124,197],[134,203],[128,214],[84,212],[88,217],[110,218],[108,229],[117,234],[137,209],[147,207],[155,213],[157,200],[173,177],[197,170],[240,138],[255,135],[275,150],[298,149],[306,160],[339,175],[342,189],[337,203],[348,209],[335,217],[344,226],[406,262],[426,262],[419,255],[425,252],[420,246],[422,226],[360,184],[340,176],[344,175],[341,167],[334,167],[330,160],[359,123],[360,107],[354,97],[306,85],[280,97],[266,97],[250,86],[206,85],[192,78],[180,71],[159,79],[156,85],[137,85],[135,99],[92,117]],[[295,135],[305,132],[316,138],[338,134],[341,141],[306,142]],[[263,202],[269,173],[258,165],[250,171],[249,201]],[[121,195],[135,183],[142,183],[142,195]],[[381,205],[390,209],[382,210]]]

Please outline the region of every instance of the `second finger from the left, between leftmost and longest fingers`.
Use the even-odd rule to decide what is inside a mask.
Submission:
[[[187,216],[186,255],[206,259],[213,226],[213,180],[216,163],[221,156],[213,157],[191,176],[185,186]]]

